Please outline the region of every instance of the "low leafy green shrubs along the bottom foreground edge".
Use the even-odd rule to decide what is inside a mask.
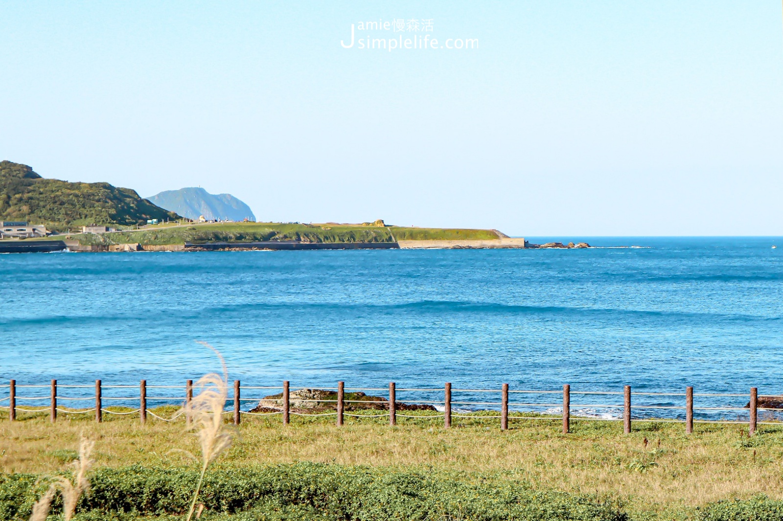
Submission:
[[[92,493],[79,505],[78,519],[181,514],[197,479],[195,469],[99,469],[91,478]],[[0,478],[0,519],[27,519],[41,492],[35,483],[31,475]],[[500,476],[316,463],[215,469],[207,474],[200,501],[207,512],[224,514],[213,519],[236,521],[626,519],[613,501],[532,490],[524,482]]]

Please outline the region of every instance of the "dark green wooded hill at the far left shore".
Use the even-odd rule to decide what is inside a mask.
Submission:
[[[0,161],[0,220],[31,221],[58,230],[81,225],[139,225],[179,215],[109,183],[45,179],[25,164]]]

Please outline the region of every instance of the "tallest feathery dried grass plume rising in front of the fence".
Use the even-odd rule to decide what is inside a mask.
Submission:
[[[215,354],[220,358],[223,374],[210,373],[202,376],[195,384],[199,393],[182,408],[189,419],[188,429],[197,431],[201,448],[201,474],[196,492],[193,494],[193,501],[190,504],[187,521],[193,519],[193,512],[196,508],[201,485],[204,484],[207,468],[211,462],[215,461],[215,458],[218,458],[231,446],[233,439],[230,429],[223,423],[223,411],[226,408],[226,399],[229,393],[229,372],[226,368],[226,361],[215,347],[205,342],[200,342],[200,344],[215,351]]]

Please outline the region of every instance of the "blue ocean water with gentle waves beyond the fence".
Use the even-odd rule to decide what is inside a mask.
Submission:
[[[0,380],[182,383],[219,368],[204,341],[244,385],[783,393],[783,239],[587,240],[0,255]]]

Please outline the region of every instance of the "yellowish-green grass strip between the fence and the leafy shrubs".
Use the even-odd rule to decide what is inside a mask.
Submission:
[[[169,417],[173,411],[157,413]],[[158,469],[154,472],[186,472],[194,468],[175,451],[197,452],[197,441],[183,435],[181,421],[150,418],[141,426],[138,418],[105,415],[103,424],[96,424],[88,416],[62,415],[54,426],[42,416],[29,414],[13,423],[0,419],[3,472],[60,471],[74,457],[81,433],[96,440],[99,469],[128,472],[136,465]],[[314,472],[329,476],[352,476],[359,472],[356,469],[364,469],[384,476],[425,476],[441,483],[431,484],[435,488],[478,480],[494,483],[492,490],[511,487],[564,493],[577,502],[589,497],[590,501],[622,505],[631,519],[702,519],[698,516],[705,512],[713,512],[709,519],[783,519],[783,514],[753,517],[758,508],[763,512],[781,508],[783,512],[781,504],[759,499],[737,504],[750,508],[750,517],[737,516],[735,510],[740,507],[732,503],[705,509],[716,501],[748,500],[758,494],[776,501],[783,498],[783,425],[762,426],[749,439],[746,427],[714,424],[697,424],[695,433],[687,436],[682,425],[663,422],[634,422],[630,435],[622,433],[619,422],[579,419],[572,421],[572,433],[566,435],[560,433],[558,421],[512,419],[511,429],[503,432],[497,419],[480,416],[454,419],[452,429],[444,429],[442,419],[399,418],[396,427],[385,425],[384,419],[346,417],[345,423],[338,428],[334,416],[292,416],[291,425],[283,426],[279,415],[245,416],[236,429],[235,444],[215,471],[230,476],[232,472],[272,472],[269,465],[288,465],[281,467],[284,471],[275,467],[275,472],[305,472],[297,465],[317,462],[330,470],[316,467]],[[762,506],[752,506],[756,504]],[[715,512],[727,505],[734,505],[734,510],[717,516]],[[297,516],[307,517],[301,512]]]

